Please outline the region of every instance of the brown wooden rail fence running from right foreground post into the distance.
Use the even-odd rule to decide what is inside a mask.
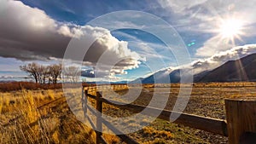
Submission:
[[[101,89],[104,89],[101,87]],[[126,85],[113,85],[113,90],[124,90],[127,89]],[[97,90],[96,87],[83,87],[82,90],[82,107],[84,111],[84,117],[87,118],[94,130],[96,131],[96,144],[107,143],[100,131],[102,131],[102,124],[108,126],[109,130],[120,133],[120,131],[110,124],[106,119],[102,118],[102,103],[112,105],[114,107],[119,107],[122,109],[128,109],[131,112],[142,112],[144,106],[125,104],[119,101],[110,101],[102,97],[100,91],[96,91],[96,95],[90,95],[89,91]],[[88,97],[96,101],[96,108],[87,105]],[[207,118],[201,117],[194,114],[180,113],[166,111],[154,107],[147,107],[150,113],[143,113],[148,116],[153,116],[154,113],[160,113],[158,118],[170,121],[170,115],[179,114],[180,117],[177,118],[173,123],[183,124],[184,126],[189,126],[198,130],[205,130],[212,132],[213,134],[224,135],[229,137],[230,144],[238,143],[256,143],[256,100],[230,100],[226,99],[226,118],[227,120],[217,119],[217,118]],[[87,116],[87,111],[92,112],[96,115],[96,125]],[[96,112],[96,110],[98,112]],[[128,135],[117,135],[122,141],[131,144],[137,144]]]

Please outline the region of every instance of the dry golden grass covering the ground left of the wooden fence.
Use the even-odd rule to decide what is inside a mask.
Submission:
[[[59,106],[65,98],[40,107],[61,98],[60,90],[22,89],[0,95],[0,143],[93,143],[90,129],[79,123],[67,105]]]

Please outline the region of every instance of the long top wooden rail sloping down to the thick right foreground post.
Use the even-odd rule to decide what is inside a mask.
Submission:
[[[107,104],[113,105],[115,107],[129,109],[132,112],[142,112],[143,109],[145,109],[144,106],[125,104],[119,101],[110,101],[103,98],[102,98],[102,101]],[[228,135],[227,124],[222,119],[206,118],[206,117],[196,116],[193,114],[166,111],[166,110],[161,110],[154,107],[147,107],[147,108],[148,108],[148,112],[147,113],[142,112],[142,114],[152,116],[152,117],[158,117],[166,121],[170,121],[171,114],[178,114],[180,115],[180,117],[177,118],[173,123],[183,124],[191,128],[195,128],[198,130],[205,130],[218,135],[224,135],[224,136]],[[159,116],[157,116],[158,113],[160,113]]]

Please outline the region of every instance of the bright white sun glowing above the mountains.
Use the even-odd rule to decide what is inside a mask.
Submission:
[[[243,20],[227,19],[222,20],[219,26],[219,34],[222,38],[234,42],[235,38],[241,39]]]

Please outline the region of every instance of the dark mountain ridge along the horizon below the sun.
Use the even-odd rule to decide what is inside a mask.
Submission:
[[[156,84],[180,82],[180,69],[168,72],[168,70],[162,70],[155,72],[147,78],[137,78],[131,81],[131,84],[154,84],[154,78]],[[239,60],[229,60],[223,65],[211,71],[204,71],[194,75],[195,83],[208,83],[208,82],[239,82],[239,81],[256,81],[256,54],[247,55]]]

